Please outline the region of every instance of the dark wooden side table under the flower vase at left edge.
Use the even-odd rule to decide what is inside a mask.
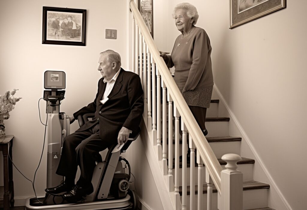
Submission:
[[[0,138],[0,151],[3,154],[3,183],[4,187],[0,187],[0,205],[3,204],[4,210],[10,209],[10,204],[14,206],[14,182],[13,182],[13,166],[12,161],[8,157],[12,157],[13,135],[6,135]],[[3,198],[2,198],[3,195]]]

